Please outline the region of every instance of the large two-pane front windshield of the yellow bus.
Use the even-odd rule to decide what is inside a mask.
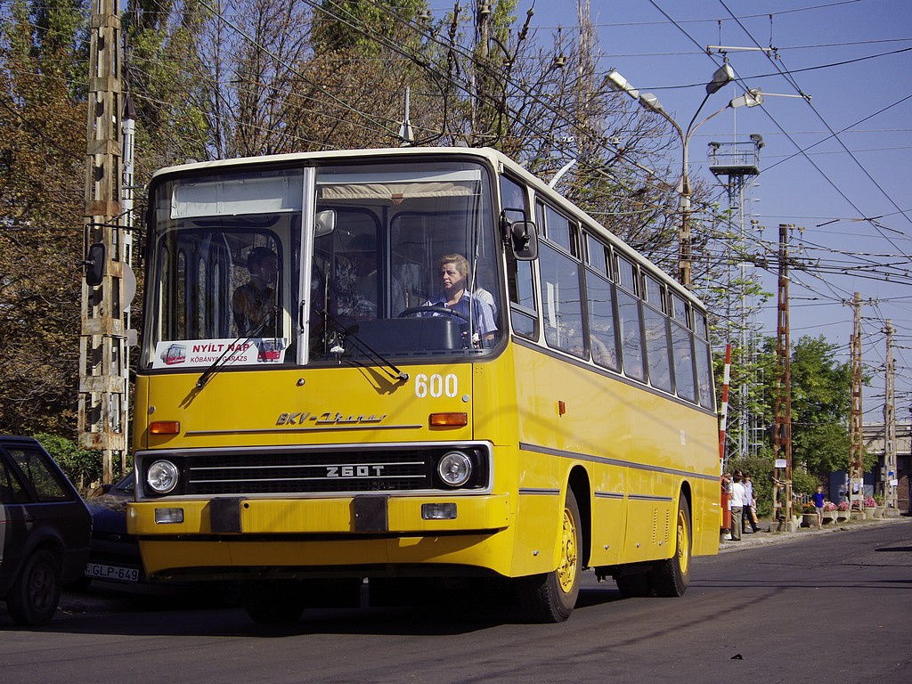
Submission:
[[[461,161],[164,178],[144,366],[489,353],[503,331],[490,188]]]

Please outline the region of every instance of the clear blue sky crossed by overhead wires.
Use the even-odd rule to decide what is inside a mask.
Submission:
[[[519,0],[518,14],[524,17],[530,4]],[[748,221],[762,230],[751,232],[749,247],[775,254],[779,225],[795,226],[790,255],[803,267],[790,269],[792,341],[823,335],[840,346],[837,359],[848,362],[854,313],[846,304],[859,293],[862,359],[872,376],[863,394],[865,423],[883,421],[886,320],[895,330],[896,418],[909,420],[912,2],[591,0],[591,14],[599,67],[615,68],[640,92],[657,95],[682,127],[724,57],[737,80],[710,97],[700,119],[745,89],[762,88],[762,106],[728,109],[694,132],[691,181],[715,181],[710,140],[762,135],[761,172],[746,203]],[[535,3],[540,32],[577,23],[573,3]],[[757,271],[772,294],[757,327],[773,337],[776,268],[773,262],[771,271]]]

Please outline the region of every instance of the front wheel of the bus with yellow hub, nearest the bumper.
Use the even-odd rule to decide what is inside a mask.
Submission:
[[[579,596],[582,531],[579,507],[572,490],[567,490],[561,524],[561,553],[557,568],[544,575],[517,580],[525,613],[535,622],[564,622],[573,612]]]

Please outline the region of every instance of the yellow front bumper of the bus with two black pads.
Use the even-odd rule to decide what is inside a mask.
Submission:
[[[429,519],[440,515],[448,517]],[[511,519],[506,494],[231,497],[136,502],[128,508],[128,529],[140,539],[143,565],[152,579],[430,564],[507,574],[509,535],[498,533]]]

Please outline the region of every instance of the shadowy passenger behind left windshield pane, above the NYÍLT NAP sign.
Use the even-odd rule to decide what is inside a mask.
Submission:
[[[247,254],[250,280],[234,290],[234,325],[241,337],[276,337],[279,262],[269,247],[254,247]]]

